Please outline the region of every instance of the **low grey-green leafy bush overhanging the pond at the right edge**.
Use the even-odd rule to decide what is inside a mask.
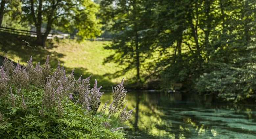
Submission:
[[[210,63],[213,71],[198,78],[195,88],[199,92],[215,93],[226,100],[240,101],[255,98],[255,47],[232,63]]]

